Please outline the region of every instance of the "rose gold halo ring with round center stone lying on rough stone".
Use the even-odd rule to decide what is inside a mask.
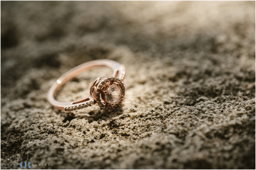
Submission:
[[[90,95],[84,99],[72,102],[60,102],[54,99],[57,90],[68,80],[74,78],[79,73],[96,66],[106,66],[112,69],[113,75],[109,77],[98,77],[91,85]],[[124,75],[125,67],[113,60],[94,60],[80,64],[64,75],[51,86],[48,91],[47,99],[55,108],[65,111],[73,111],[87,108],[94,104],[104,110],[113,110],[119,106],[124,98]]]

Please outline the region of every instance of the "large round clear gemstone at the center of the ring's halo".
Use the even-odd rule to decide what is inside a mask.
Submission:
[[[118,104],[122,98],[123,92],[119,86],[112,84],[107,88],[107,93],[105,94],[106,102],[109,104]]]

